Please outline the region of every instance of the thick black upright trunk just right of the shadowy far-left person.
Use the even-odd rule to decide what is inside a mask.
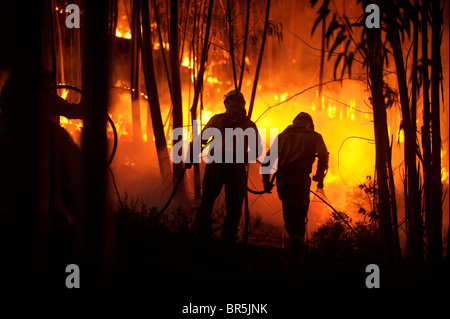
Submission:
[[[83,47],[83,199],[77,228],[84,286],[89,294],[105,292],[111,265],[110,224],[106,205],[106,113],[108,106],[108,1],[87,1],[84,7]],[[109,248],[109,249],[108,249]]]

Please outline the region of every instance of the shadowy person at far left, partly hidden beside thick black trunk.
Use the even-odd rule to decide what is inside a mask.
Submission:
[[[10,108],[16,99],[17,80],[11,75],[0,95],[0,132],[7,140],[12,134]],[[45,67],[39,77],[39,190],[38,210],[57,231],[67,230],[73,223],[80,205],[81,150],[69,133],[59,125],[60,116],[80,119],[80,104],[72,104],[58,96],[55,79]],[[38,133],[38,132],[36,132]],[[0,145],[7,148],[7,144]],[[25,147],[25,146],[24,146]],[[7,181],[5,181],[7,183]]]

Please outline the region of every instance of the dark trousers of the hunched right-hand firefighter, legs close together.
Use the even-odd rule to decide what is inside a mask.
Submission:
[[[310,171],[297,166],[278,169],[277,191],[283,204],[283,218],[291,240],[301,241],[305,235],[309,207]]]

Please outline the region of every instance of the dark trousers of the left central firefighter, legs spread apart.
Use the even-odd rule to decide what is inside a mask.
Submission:
[[[226,217],[222,239],[235,241],[241,217],[242,202],[247,189],[245,164],[210,163],[206,165],[202,184],[202,202],[193,230],[201,237],[211,237],[214,202],[225,185]]]

